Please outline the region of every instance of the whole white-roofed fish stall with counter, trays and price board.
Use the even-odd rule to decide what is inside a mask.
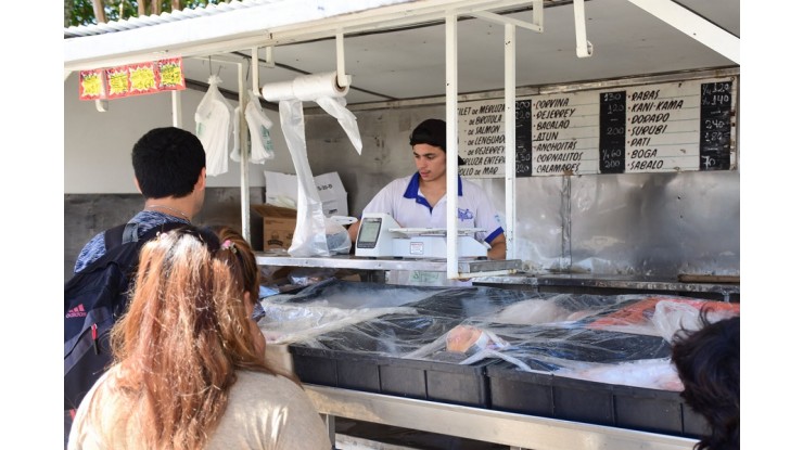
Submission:
[[[252,243],[278,242],[254,245],[265,271],[321,274],[271,285],[259,326],[333,442],[349,419],[520,449],[690,450],[705,424],[679,397],[671,337],[696,326],[703,308],[738,314],[740,296],[739,39],[692,12],[729,23],[736,11],[738,30],[738,2],[710,4],[232,1],[65,29],[65,83],[71,70],[167,59],[194,70],[188,87],[219,87],[239,103],[239,173],[207,180],[207,192],[233,187],[221,196],[239,202],[224,215],[207,201],[201,218],[240,223]],[[313,91],[293,90],[313,81]],[[195,111],[194,93],[169,94],[174,125],[191,128],[181,112]],[[95,102],[104,116],[80,121],[97,134],[74,114],[65,130],[105,145],[107,130],[118,139],[125,128],[104,121],[124,103]],[[244,157],[246,103],[273,118],[283,166],[255,170]],[[343,217],[323,214],[314,172],[341,173],[348,207],[339,215],[359,217],[382,185],[409,175],[394,149],[409,149],[411,124],[425,117],[444,117],[459,149],[448,153],[447,185],[476,181],[504,216],[506,259],[485,258],[451,222],[435,232],[384,217],[366,217],[373,228],[349,252]],[[81,160],[65,168],[66,187],[92,178],[73,172],[93,158],[69,153],[91,144],[65,142],[65,159]],[[297,177],[297,209],[278,237],[254,229],[254,207],[269,200],[254,182],[265,168]],[[109,215],[125,209],[109,203]],[[86,209],[105,203],[87,204],[73,211],[80,220],[65,220],[82,232],[93,218]],[[396,284],[397,272],[472,285]]]

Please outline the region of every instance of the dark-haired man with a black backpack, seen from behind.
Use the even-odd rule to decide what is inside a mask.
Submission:
[[[206,188],[206,153],[191,132],[155,128],[131,152],[144,207],[128,223],[93,236],[81,249],[64,293],[65,441],[75,408],[111,362],[107,333],[126,309],[128,281],[142,242],[190,224]]]

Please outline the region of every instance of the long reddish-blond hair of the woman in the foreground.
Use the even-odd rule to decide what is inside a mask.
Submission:
[[[112,329],[118,396],[90,406],[112,447],[203,448],[235,370],[275,373],[251,333],[231,257],[214,232],[189,226],[142,246],[129,309]]]

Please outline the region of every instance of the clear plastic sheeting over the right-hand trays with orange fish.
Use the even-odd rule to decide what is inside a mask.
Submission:
[[[738,304],[693,298],[562,294],[467,318],[406,357],[441,359],[449,350],[450,335],[476,331],[472,336],[480,336],[475,339],[481,344],[451,350],[463,356],[462,364],[499,359],[528,372],[680,390],[670,361],[672,338],[681,327],[697,330],[702,308],[714,322],[739,314]],[[532,324],[522,323],[526,321]]]

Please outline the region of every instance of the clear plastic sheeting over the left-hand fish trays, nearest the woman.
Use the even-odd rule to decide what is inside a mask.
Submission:
[[[266,316],[259,327],[272,343],[399,357],[438,338],[466,317],[493,312],[530,296],[483,286],[401,286],[330,279],[294,294],[264,298]],[[315,338],[337,330],[342,333]]]

